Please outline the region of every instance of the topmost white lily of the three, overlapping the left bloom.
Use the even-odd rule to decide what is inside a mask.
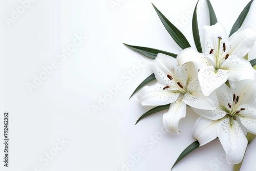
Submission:
[[[200,69],[198,80],[203,94],[208,96],[229,79],[256,80],[256,71],[243,57],[251,50],[256,32],[250,27],[242,27],[229,38],[219,22],[203,27],[203,54],[194,48],[183,50],[178,56],[179,64],[192,61]]]

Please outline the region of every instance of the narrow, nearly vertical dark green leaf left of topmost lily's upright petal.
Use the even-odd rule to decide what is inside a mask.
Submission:
[[[199,1],[198,1],[199,2]],[[197,4],[198,4],[197,2]],[[193,19],[192,19],[192,31],[193,31],[193,37],[194,41],[197,47],[197,51],[202,53],[202,47],[201,47],[201,41],[200,41],[200,35],[198,31],[198,22],[197,22],[197,5],[194,10]]]

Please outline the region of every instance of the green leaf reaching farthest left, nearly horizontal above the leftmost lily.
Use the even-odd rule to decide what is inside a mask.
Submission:
[[[135,50],[139,53],[141,53],[142,55],[155,59],[157,57],[158,53],[163,53],[165,55],[169,55],[172,57],[177,57],[177,54],[174,53],[170,53],[170,52],[166,52],[166,51],[162,51],[162,50],[158,50],[158,49],[153,49],[153,48],[146,48],[146,47],[140,47],[140,46],[132,46],[132,45],[127,45],[127,44],[123,44],[129,48],[131,48],[132,50]]]

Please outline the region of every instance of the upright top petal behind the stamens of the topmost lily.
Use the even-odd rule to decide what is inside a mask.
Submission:
[[[220,48],[222,48],[223,43],[225,42],[226,47],[228,47],[228,36],[224,26],[218,22],[213,26],[204,26],[203,27],[203,37],[204,37],[204,46],[203,53],[206,57],[215,61],[215,56],[221,56],[222,50],[219,49],[219,38],[221,37]],[[210,54],[210,51],[213,52]],[[219,52],[219,54],[218,54]]]

